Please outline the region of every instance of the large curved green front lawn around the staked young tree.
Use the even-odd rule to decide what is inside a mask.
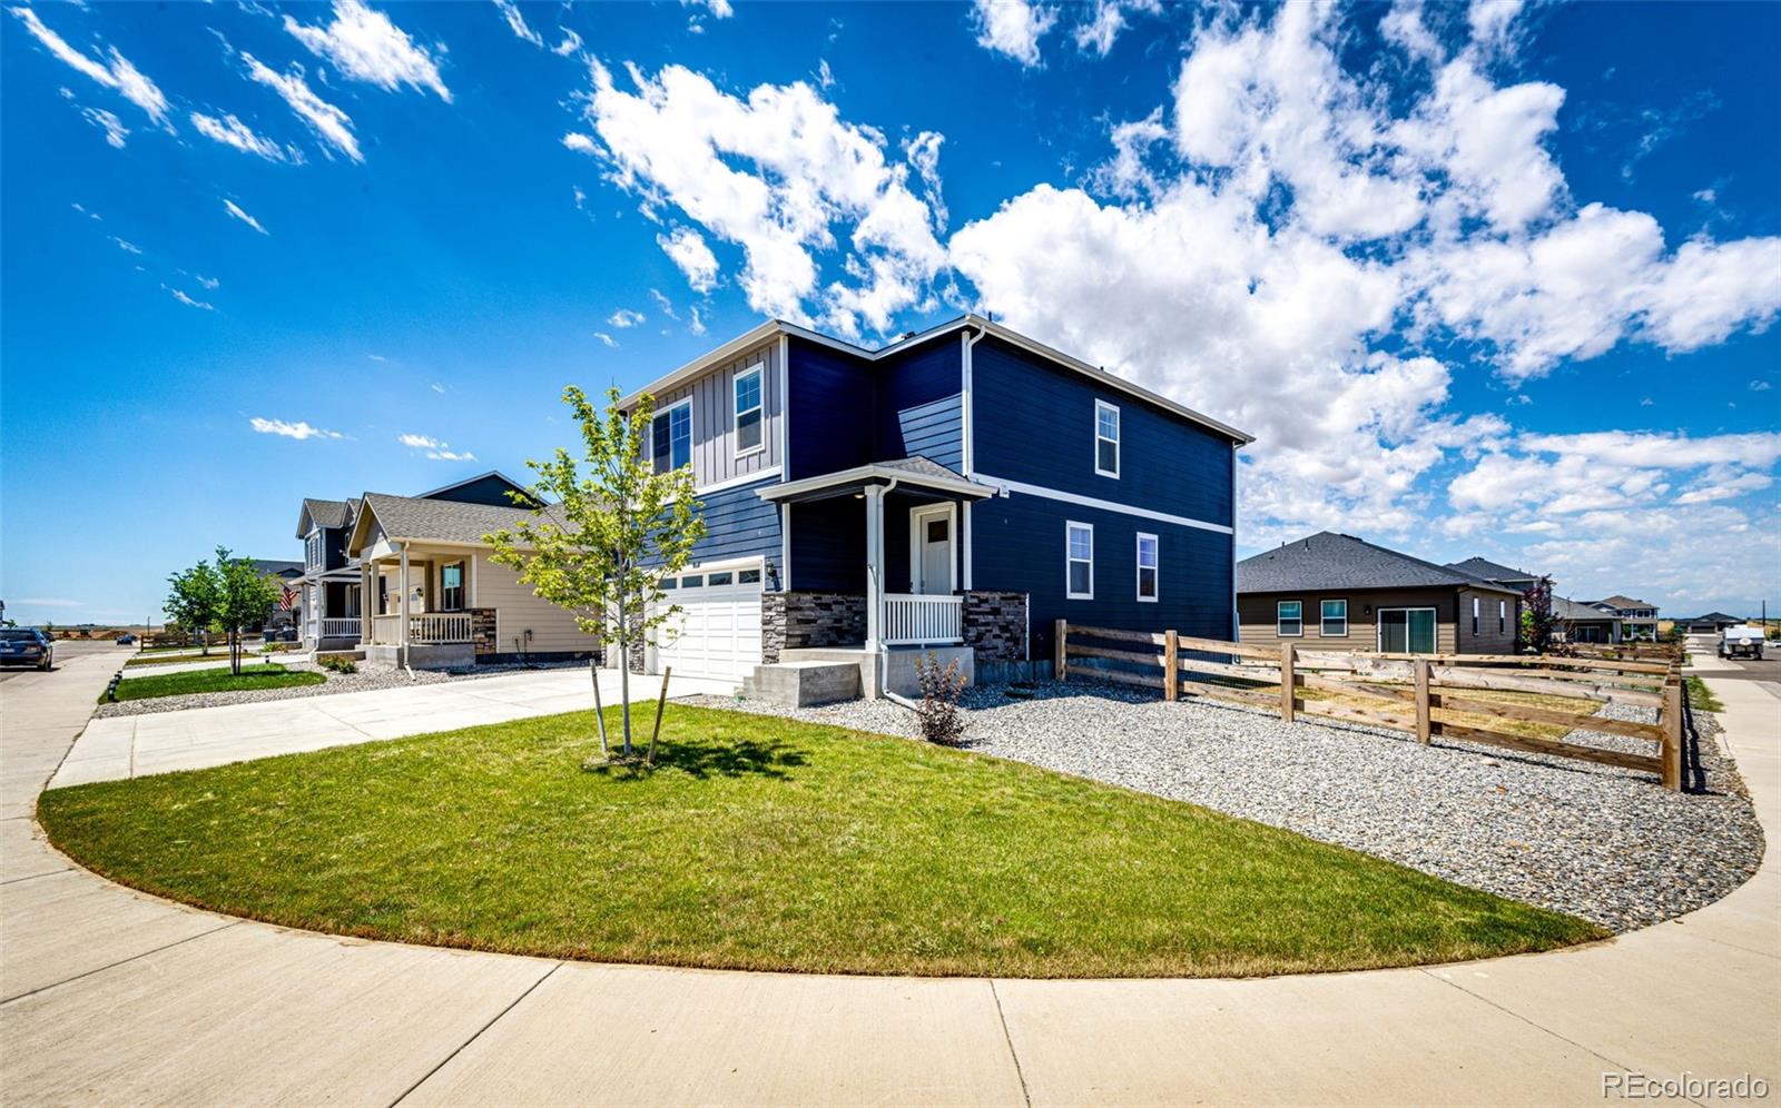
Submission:
[[[591,734],[591,713],[520,720],[53,789],[37,814],[93,869],[219,912],[607,962],[1222,976],[1603,935],[1259,823],[908,739],[675,705],[647,773],[584,768]]]

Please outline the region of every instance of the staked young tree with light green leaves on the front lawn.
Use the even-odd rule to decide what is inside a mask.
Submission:
[[[581,458],[557,447],[549,461],[527,461],[538,479],[527,497],[533,518],[483,536],[497,563],[520,572],[545,600],[565,607],[586,634],[618,643],[618,698],[623,752],[630,746],[630,647],[680,609],[663,606],[663,577],[686,568],[705,522],[693,499],[693,468],[657,474],[650,458],[654,397],[641,397],[627,417],[618,390],[595,410],[581,388],[563,390],[563,403],[581,424]],[[550,501],[556,501],[554,504]],[[540,504],[545,504],[540,508]],[[598,702],[598,673],[593,673]],[[606,745],[606,725],[600,723]]]

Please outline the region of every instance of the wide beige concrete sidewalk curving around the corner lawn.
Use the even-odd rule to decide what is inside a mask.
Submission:
[[[1248,982],[703,973],[312,935],[71,868],[27,818],[109,670],[0,697],[5,1103],[1541,1103],[1781,1083],[1781,860],[1582,949]],[[1767,827],[1770,689],[1715,682]],[[1614,1099],[1612,1096],[1608,1099]]]

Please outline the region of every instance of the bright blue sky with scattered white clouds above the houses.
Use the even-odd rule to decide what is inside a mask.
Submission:
[[[782,315],[994,312],[1339,529],[1781,607],[1781,5],[7,7],[0,590],[570,442]],[[71,538],[80,536],[80,538]]]

